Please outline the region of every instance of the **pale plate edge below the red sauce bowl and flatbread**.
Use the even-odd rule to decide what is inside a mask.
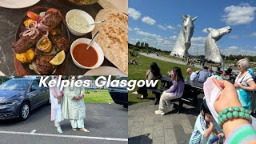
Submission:
[[[97,75],[126,75],[121,70],[111,66],[100,66],[96,69],[92,69],[86,72],[87,76]]]

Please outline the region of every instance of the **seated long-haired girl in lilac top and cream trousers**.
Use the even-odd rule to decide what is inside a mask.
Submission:
[[[170,102],[172,99],[181,98],[184,91],[184,78],[182,76],[182,70],[179,67],[174,67],[171,74],[173,86],[170,89],[164,91],[159,101],[159,110],[156,110],[155,114],[167,114],[173,110],[174,104]],[[167,106],[166,106],[167,104]]]

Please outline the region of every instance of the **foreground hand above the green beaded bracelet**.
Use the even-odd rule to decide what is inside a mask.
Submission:
[[[217,111],[217,113],[231,106],[242,107],[238,99],[238,93],[233,84],[228,81],[217,80],[216,78],[212,78],[212,80],[218,89],[222,90],[222,93],[219,95],[216,102],[214,102],[214,109]]]

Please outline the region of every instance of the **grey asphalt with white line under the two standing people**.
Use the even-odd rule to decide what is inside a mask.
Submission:
[[[42,106],[24,122],[0,121],[0,143],[127,143],[127,117],[127,109],[120,105],[86,103],[85,127],[90,133],[72,130],[65,120],[63,134],[58,134],[50,121],[50,106]]]

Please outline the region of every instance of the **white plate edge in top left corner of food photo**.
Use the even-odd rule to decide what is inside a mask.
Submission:
[[[0,0],[0,7],[18,9],[18,8],[33,6],[39,1],[40,0]]]

